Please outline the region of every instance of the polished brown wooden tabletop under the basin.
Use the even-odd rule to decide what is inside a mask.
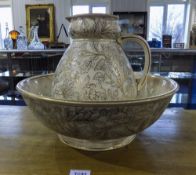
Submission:
[[[0,175],[196,175],[196,111],[167,109],[128,146],[85,152],[61,143],[27,107],[0,106]]]

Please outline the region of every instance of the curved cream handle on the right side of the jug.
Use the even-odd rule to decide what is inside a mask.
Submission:
[[[147,75],[150,72],[150,67],[151,67],[151,51],[148,46],[148,43],[146,40],[144,40],[141,36],[138,35],[123,35],[117,39],[117,42],[122,46],[123,43],[127,41],[132,41],[136,42],[139,45],[141,45],[144,49],[144,56],[145,56],[145,63],[144,63],[144,69],[143,69],[143,75],[139,79],[139,82],[137,84],[137,90],[141,90],[142,87],[145,85]]]

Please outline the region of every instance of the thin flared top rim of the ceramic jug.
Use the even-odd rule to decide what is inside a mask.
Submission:
[[[102,18],[113,18],[113,19],[119,19],[118,16],[115,15],[110,15],[110,14],[103,14],[103,13],[88,13],[88,14],[80,14],[80,15],[73,15],[73,16],[68,16],[66,19],[70,22],[74,18],[83,18],[83,17],[102,17]]]

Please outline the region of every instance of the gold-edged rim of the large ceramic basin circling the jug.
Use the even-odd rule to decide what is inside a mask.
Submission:
[[[138,98],[138,99],[134,99],[134,100],[124,100],[124,101],[74,101],[74,100],[62,100],[62,99],[55,99],[52,97],[48,97],[48,96],[42,96],[42,95],[37,95],[35,93],[29,92],[24,90],[23,85],[25,82],[27,81],[32,81],[33,79],[38,79],[38,78],[46,78],[49,76],[53,76],[54,73],[51,74],[46,74],[46,75],[38,75],[38,76],[33,76],[30,78],[26,78],[22,81],[20,81],[17,85],[16,85],[16,89],[24,96],[28,96],[30,98],[33,98],[35,100],[45,100],[47,102],[51,102],[51,103],[58,103],[58,104],[66,104],[66,105],[75,105],[75,106],[114,106],[114,105],[129,105],[129,104],[137,104],[137,103],[146,103],[146,102],[151,102],[151,101],[155,101],[155,100],[160,100],[166,97],[169,97],[171,95],[173,95],[175,92],[178,91],[179,89],[179,85],[172,79],[169,78],[165,78],[165,77],[161,77],[158,75],[150,75],[150,77],[153,78],[158,78],[158,79],[162,79],[162,80],[166,80],[167,82],[170,82],[173,85],[173,88],[171,90],[166,91],[165,93],[161,93],[160,95],[155,95],[155,96],[150,96],[147,98]]]

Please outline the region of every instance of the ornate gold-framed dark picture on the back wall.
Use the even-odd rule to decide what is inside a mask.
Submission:
[[[38,35],[42,42],[53,43],[55,40],[54,29],[54,4],[26,5],[26,31],[27,38],[31,38],[31,27],[39,26]]]

